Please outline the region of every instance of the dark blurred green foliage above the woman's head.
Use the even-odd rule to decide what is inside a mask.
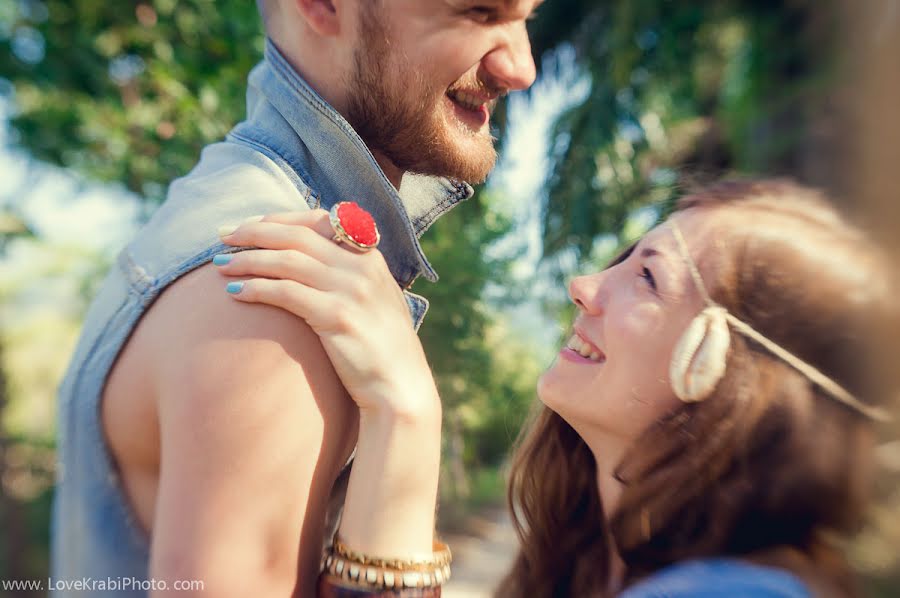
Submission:
[[[727,172],[810,178],[801,157],[833,84],[826,50],[834,10],[832,2],[771,0],[542,6],[535,54],[562,40],[590,82],[553,132],[545,255],[574,249],[586,258],[604,234],[624,242],[629,215],[672,199],[685,180]],[[567,57],[545,69],[560,72]]]

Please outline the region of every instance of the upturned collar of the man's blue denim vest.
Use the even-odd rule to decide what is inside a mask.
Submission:
[[[402,286],[419,275],[434,282],[419,237],[442,214],[472,196],[472,187],[443,177],[404,175],[391,184],[350,124],[293,69],[266,39],[265,58],[251,71],[247,120],[232,136],[274,152],[313,205],[330,209],[356,201],[375,217],[379,249]],[[302,183],[302,185],[301,185]]]

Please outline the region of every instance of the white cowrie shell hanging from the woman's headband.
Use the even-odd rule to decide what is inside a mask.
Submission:
[[[723,307],[707,307],[693,319],[675,345],[669,380],[675,396],[685,403],[707,398],[725,375],[731,346],[727,314]]]

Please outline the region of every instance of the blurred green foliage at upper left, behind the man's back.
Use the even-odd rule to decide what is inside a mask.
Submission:
[[[12,126],[40,160],[160,201],[244,115],[262,55],[246,0],[22,0],[0,11]]]

